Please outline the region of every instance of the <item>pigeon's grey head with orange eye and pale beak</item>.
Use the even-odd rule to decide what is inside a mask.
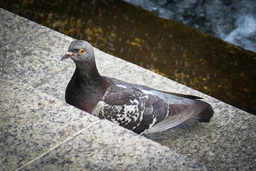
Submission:
[[[94,60],[92,45],[84,40],[75,40],[70,44],[68,51],[66,51],[61,60],[67,58],[71,58],[75,63]]]

